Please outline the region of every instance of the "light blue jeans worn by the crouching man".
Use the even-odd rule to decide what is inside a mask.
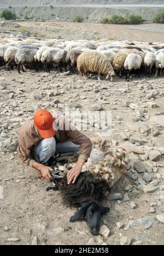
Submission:
[[[40,164],[48,162],[51,156],[55,153],[65,154],[78,152],[79,146],[75,145],[71,141],[56,142],[55,138],[42,139],[33,149],[34,159]]]

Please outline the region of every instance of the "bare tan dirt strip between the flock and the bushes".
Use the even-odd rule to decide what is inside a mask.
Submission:
[[[133,30],[135,28],[135,30]],[[140,31],[140,28],[145,31]],[[154,32],[153,30],[159,32]],[[5,22],[0,26],[2,33],[24,32],[27,36],[37,36],[42,38],[63,39],[106,39],[106,40],[139,40],[141,42],[164,42],[162,33],[163,24],[143,24],[143,25],[110,25],[110,24],[83,24],[74,22]],[[161,32],[160,32],[161,31]]]

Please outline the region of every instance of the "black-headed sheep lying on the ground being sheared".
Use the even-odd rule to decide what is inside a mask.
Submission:
[[[67,185],[67,177],[60,182],[62,199],[66,205],[81,206],[70,221],[75,222],[84,216],[93,235],[98,234],[102,215],[110,211],[100,202],[107,190],[125,173],[126,167],[125,149],[115,146],[108,139],[99,139],[95,150],[99,150],[98,158],[85,165],[87,171],[81,172],[74,184]]]

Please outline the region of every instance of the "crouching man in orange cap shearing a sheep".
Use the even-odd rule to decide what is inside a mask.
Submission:
[[[55,153],[79,152],[77,164],[68,172],[68,184],[75,183],[92,150],[91,140],[70,127],[55,130],[55,118],[47,110],[40,109],[34,119],[27,121],[18,132],[18,156],[24,164],[36,168],[44,179],[52,179],[52,168],[45,164]]]

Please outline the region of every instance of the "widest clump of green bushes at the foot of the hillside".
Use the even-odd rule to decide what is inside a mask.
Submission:
[[[139,15],[117,15],[114,14],[110,18],[102,18],[102,24],[142,24],[143,19]]]

